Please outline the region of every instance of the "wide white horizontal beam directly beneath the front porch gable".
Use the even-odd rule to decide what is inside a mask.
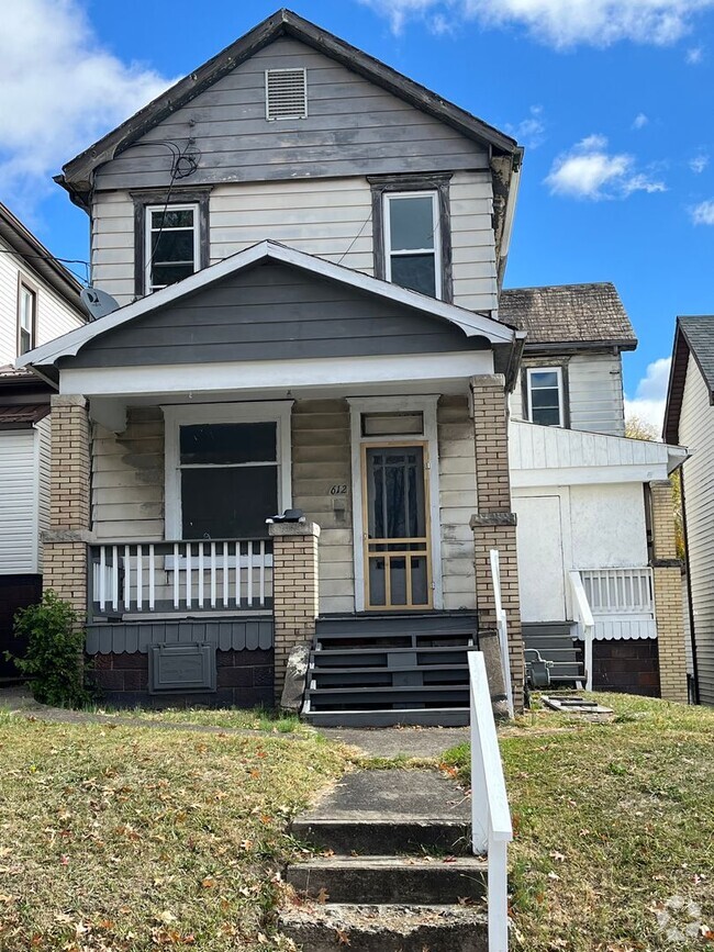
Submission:
[[[158,293],[158,292],[157,292]],[[104,318],[102,318],[104,320]],[[334,357],[300,360],[246,360],[235,363],[183,363],[155,367],[68,368],[60,393],[119,396],[150,393],[239,393],[287,391],[298,387],[350,387],[395,381],[434,381],[493,372],[490,350],[445,354]]]

